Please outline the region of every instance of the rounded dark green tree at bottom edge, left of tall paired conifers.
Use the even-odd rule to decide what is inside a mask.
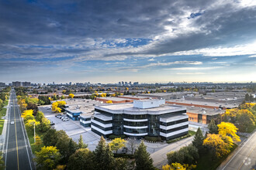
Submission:
[[[95,163],[93,162],[94,155],[88,148],[80,148],[74,152],[68,159],[67,169],[71,170],[93,170]]]

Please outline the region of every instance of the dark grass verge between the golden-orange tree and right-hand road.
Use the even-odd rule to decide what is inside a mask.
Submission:
[[[234,149],[237,148],[237,145],[234,144],[233,148],[231,148],[230,153],[232,153],[232,151],[234,151]],[[211,155],[209,153],[206,153],[202,156],[202,158],[199,159],[199,162],[196,165],[195,169],[198,170],[215,170],[220,164],[221,162],[223,162],[228,155],[223,156],[223,158],[219,158],[216,160],[213,160],[213,158],[211,157]]]

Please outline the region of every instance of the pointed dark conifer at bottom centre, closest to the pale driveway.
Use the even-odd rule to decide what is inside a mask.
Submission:
[[[153,160],[150,158],[150,154],[147,152],[147,147],[144,142],[141,141],[139,147],[135,153],[136,170],[150,170],[154,169]]]

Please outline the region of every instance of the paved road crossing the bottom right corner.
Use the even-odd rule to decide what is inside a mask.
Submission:
[[[218,169],[256,169],[256,131]]]

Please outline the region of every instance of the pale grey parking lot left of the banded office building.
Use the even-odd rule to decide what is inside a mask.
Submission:
[[[86,144],[88,144],[88,149],[91,151],[95,150],[96,145],[98,145],[98,141],[100,136],[91,131],[91,128],[85,128],[81,126],[80,121],[73,121],[70,118],[69,121],[61,121],[60,118],[55,117],[56,114],[53,114],[49,109],[49,106],[39,107],[39,110],[43,112],[44,116],[47,117],[51,122],[54,122],[54,128],[57,131],[64,130],[67,135],[71,137],[74,141],[78,142],[80,134],[83,137],[83,140]]]

